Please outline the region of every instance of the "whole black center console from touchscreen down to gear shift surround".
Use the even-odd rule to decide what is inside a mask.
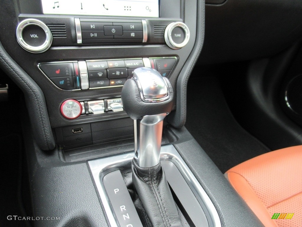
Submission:
[[[108,191],[118,179],[131,191],[136,122],[121,94],[140,67],[174,90],[157,145],[186,226],[260,226],[184,128],[204,1],[3,1],[0,26],[1,68],[24,94],[12,111],[23,117],[33,216],[60,217],[35,226],[135,226],[120,224],[130,214]]]

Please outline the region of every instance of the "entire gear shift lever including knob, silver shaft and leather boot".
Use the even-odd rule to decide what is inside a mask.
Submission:
[[[134,120],[133,185],[152,226],[182,226],[160,165],[162,125],[173,107],[169,80],[151,68],[137,68],[122,89],[124,110]]]

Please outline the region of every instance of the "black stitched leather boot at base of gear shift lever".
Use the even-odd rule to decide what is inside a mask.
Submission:
[[[152,225],[156,227],[182,227],[161,164],[142,168],[133,159],[131,167],[134,188]]]

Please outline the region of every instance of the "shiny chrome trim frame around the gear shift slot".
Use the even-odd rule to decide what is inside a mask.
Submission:
[[[116,221],[117,219],[115,218],[113,209],[110,205],[110,201],[105,191],[105,187],[101,182],[101,179],[104,175],[114,170],[125,169],[125,166],[128,166],[130,168],[131,160],[133,159],[133,157],[134,152],[130,152],[88,161],[88,166],[92,173],[95,186],[98,190],[101,203],[104,206],[104,210],[106,212],[108,222],[111,227],[118,227],[119,224]],[[207,218],[211,219],[208,220],[208,222],[212,223],[213,227],[221,227],[220,218],[213,202],[211,201],[207,193],[204,191],[202,186],[199,184],[198,180],[191,172],[182,157],[179,155],[175,147],[173,145],[162,146],[160,159],[169,160],[175,164],[175,166],[178,168],[178,170],[184,177],[185,181],[188,183],[192,192],[198,199],[199,203],[202,202],[206,206],[210,216]]]

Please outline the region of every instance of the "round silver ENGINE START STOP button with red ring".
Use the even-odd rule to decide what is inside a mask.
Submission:
[[[60,110],[66,119],[76,119],[82,114],[82,104],[77,100],[68,99],[62,103]]]

